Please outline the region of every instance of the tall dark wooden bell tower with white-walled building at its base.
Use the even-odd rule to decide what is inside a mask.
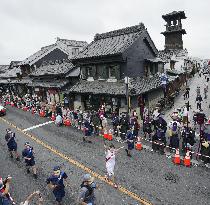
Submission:
[[[175,91],[184,85],[187,73],[191,71],[187,49],[183,49],[183,35],[186,34],[182,26],[182,19],[186,19],[184,11],[173,11],[162,15],[166,21],[165,49],[158,52],[158,57],[165,61],[164,72],[168,76],[177,76],[177,80],[171,84],[171,90]]]

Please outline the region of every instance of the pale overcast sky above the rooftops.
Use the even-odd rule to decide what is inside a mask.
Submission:
[[[162,14],[183,10],[184,48],[210,58],[210,0],[0,0],[0,65],[24,60],[56,37],[90,43],[96,33],[143,22],[164,48]]]

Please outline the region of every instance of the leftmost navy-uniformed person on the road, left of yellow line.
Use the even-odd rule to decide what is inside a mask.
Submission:
[[[10,152],[10,157],[13,158],[15,155],[16,160],[20,161],[19,154],[17,153],[17,143],[15,141],[15,133],[10,128],[6,129],[5,140],[7,141],[7,147]]]

